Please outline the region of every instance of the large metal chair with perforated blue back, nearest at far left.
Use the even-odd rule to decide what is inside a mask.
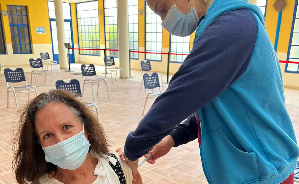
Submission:
[[[5,80],[6,80],[6,86],[7,86],[7,108],[8,108],[8,102],[9,102],[9,92],[11,92],[11,91],[13,91],[13,94],[15,96],[17,111],[19,111],[19,109],[18,109],[16,93],[28,92],[28,100],[29,100],[30,92],[35,91],[35,94],[37,96],[36,86],[35,85],[27,85],[24,70],[22,68],[5,68],[4,76],[5,76]],[[18,83],[18,82],[23,82],[23,81],[25,81],[25,86],[10,86],[8,84],[8,83]],[[34,89],[30,89],[30,88],[34,88]],[[12,90],[9,90],[9,89],[12,89]]]

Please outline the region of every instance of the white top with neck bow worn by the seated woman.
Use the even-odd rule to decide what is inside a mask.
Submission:
[[[104,158],[99,157],[96,153],[94,153],[92,150],[90,151],[90,154],[92,157],[96,158],[98,160],[97,165],[94,169],[94,175],[97,176],[97,179],[92,182],[91,184],[120,184],[117,174],[113,171],[111,166],[109,165],[109,161],[115,166],[117,163],[117,160],[113,157],[110,157],[108,155],[104,155]],[[133,183],[133,175],[132,170],[129,167],[129,165],[121,160],[118,156],[118,161],[120,163],[120,166],[123,170],[123,174],[126,178],[127,184]],[[45,174],[42,176],[39,180],[41,184],[65,184],[62,183],[53,177],[51,177],[49,174]]]

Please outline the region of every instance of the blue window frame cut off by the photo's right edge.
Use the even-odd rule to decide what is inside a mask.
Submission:
[[[296,13],[297,13],[297,8],[299,7],[299,0],[296,0],[295,1],[295,7],[294,7],[294,15],[293,15],[293,20],[292,20],[292,28],[291,28],[291,35],[290,35],[290,40],[289,40],[289,48],[288,48],[288,53],[287,53],[287,58],[286,58],[286,61],[289,61],[290,59],[290,52],[291,52],[291,47],[292,46],[299,46],[299,45],[292,45],[292,39],[293,39],[293,35],[294,33],[299,33],[299,31],[297,32],[294,32],[294,29],[295,29],[295,20],[299,18],[296,18]],[[291,58],[291,59],[298,59],[299,58]],[[284,72],[286,73],[299,73],[299,61],[298,61],[298,69],[297,71],[289,71],[288,70],[288,63],[286,63],[286,66],[285,66],[285,69],[284,69]]]

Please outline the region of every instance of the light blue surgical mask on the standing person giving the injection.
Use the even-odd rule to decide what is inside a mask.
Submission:
[[[161,25],[172,35],[189,36],[196,30],[198,22],[199,17],[195,8],[191,7],[190,1],[188,15],[181,13],[175,4],[170,8]]]

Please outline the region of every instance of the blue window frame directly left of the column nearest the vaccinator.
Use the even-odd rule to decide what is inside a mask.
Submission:
[[[110,30],[109,30],[109,32],[107,33],[106,32],[106,16],[105,16],[105,9],[110,9],[110,8],[105,8],[105,1],[106,0],[103,0],[103,17],[104,17],[104,38],[105,38],[105,48],[106,49],[115,49],[115,48],[107,48],[107,39],[106,39],[106,34],[109,34],[109,36],[110,36],[110,34],[115,34],[115,32],[110,32]],[[116,0],[117,1],[117,0]],[[118,48],[118,11],[117,11],[117,4],[116,4],[116,18],[117,18],[117,24],[110,24],[110,22],[109,22],[109,24],[107,24],[107,25],[117,25],[117,32],[116,32],[116,34],[117,34],[117,40],[108,40],[109,42],[113,42],[113,45],[115,44],[115,42],[117,42],[117,48],[115,49],[115,50],[118,50],[119,48]],[[115,17],[115,16],[108,16],[108,17]],[[114,23],[114,21],[113,21],[113,23]],[[114,30],[114,29],[113,29]],[[108,53],[110,53],[110,55],[108,55],[107,54],[107,52]],[[111,55],[111,53],[114,53],[113,55]],[[117,55],[115,55],[115,54],[117,54]],[[118,56],[119,56],[119,52],[118,51],[106,51],[106,57],[113,57],[113,58],[118,58]]]

